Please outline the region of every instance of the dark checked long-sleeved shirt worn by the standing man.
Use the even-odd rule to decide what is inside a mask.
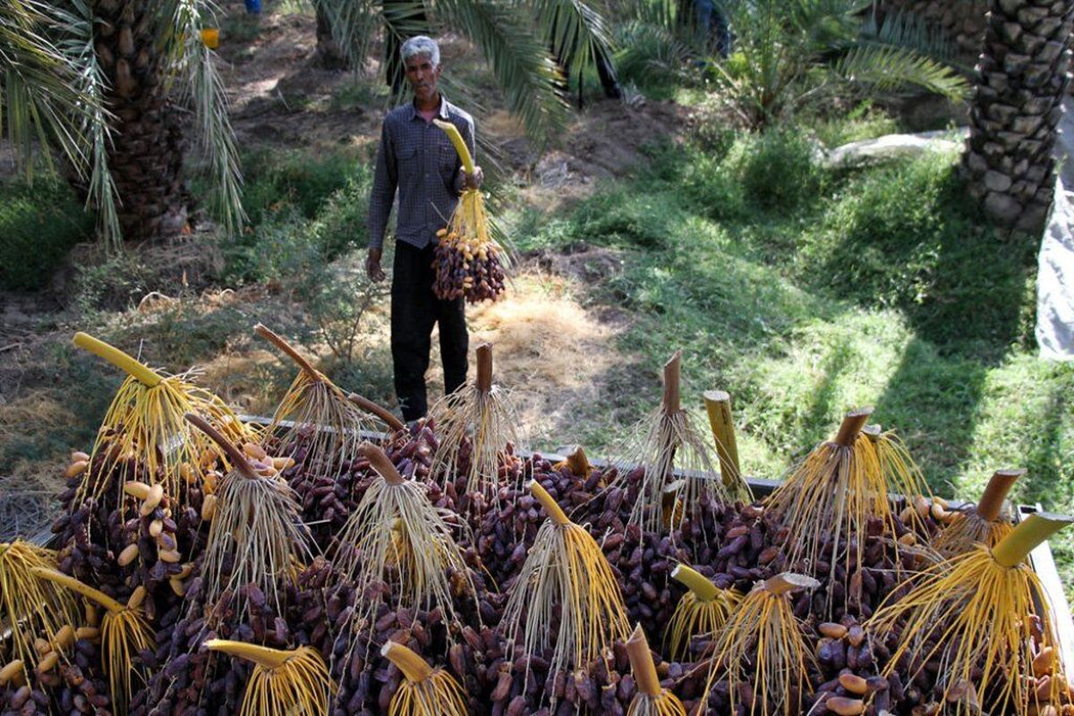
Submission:
[[[459,128],[474,155],[474,119],[440,96],[439,119]],[[462,160],[439,127],[426,122],[413,102],[384,118],[369,196],[369,248],[384,245],[388,216],[398,189],[395,238],[421,249],[435,240],[455,210],[463,186]]]

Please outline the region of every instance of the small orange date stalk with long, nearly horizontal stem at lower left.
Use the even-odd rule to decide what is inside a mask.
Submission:
[[[121,604],[103,591],[54,569],[33,567],[30,571],[43,580],[78,593],[105,610],[100,626],[101,661],[108,677],[115,712],[126,713],[134,692],[132,677],[136,676],[143,683],[146,681],[145,666],[137,654],[142,649],[153,648],[155,643],[153,629],[142,610],[145,589],[139,587],[128,603]]]

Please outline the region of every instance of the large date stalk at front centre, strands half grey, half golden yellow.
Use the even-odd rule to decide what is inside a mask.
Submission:
[[[623,595],[593,537],[567,518],[540,483],[526,486],[549,516],[511,587],[502,620],[507,641],[513,648],[521,634],[531,656],[552,646],[550,673],[585,669],[607,659],[613,641],[626,639]]]

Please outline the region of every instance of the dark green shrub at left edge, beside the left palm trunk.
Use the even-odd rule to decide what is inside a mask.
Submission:
[[[58,180],[0,186],[0,287],[42,288],[72,246],[88,238],[93,222]]]

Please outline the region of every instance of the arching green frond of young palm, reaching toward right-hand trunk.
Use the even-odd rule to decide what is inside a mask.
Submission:
[[[957,101],[970,89],[966,78],[949,67],[905,47],[855,47],[836,63],[834,72],[847,82],[880,91],[916,86]]]

